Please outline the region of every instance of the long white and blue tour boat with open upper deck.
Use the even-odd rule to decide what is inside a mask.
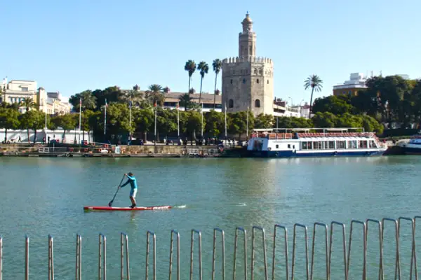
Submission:
[[[285,132],[279,133],[284,130]],[[309,132],[323,130],[323,132]],[[281,128],[253,130],[247,151],[257,158],[302,158],[383,155],[386,144],[374,132],[349,132],[362,128]]]

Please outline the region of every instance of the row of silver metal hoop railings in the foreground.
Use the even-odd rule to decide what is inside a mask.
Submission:
[[[420,221],[421,216],[415,216],[413,218],[408,217],[399,217],[395,218],[382,218],[381,220],[375,219],[366,219],[365,221],[356,221],[352,220],[349,226],[349,237],[347,237],[346,225],[338,221],[332,221],[331,223],[313,223],[312,225],[303,225],[300,223],[295,223],[293,225],[293,244],[290,244],[288,241],[288,232],[289,230],[285,225],[276,224],[273,227],[273,238],[272,245],[269,245],[271,248],[267,248],[267,233],[264,228],[260,226],[253,225],[251,230],[251,252],[248,253],[248,235],[250,235],[247,230],[241,227],[235,228],[234,232],[234,252],[233,258],[229,260],[232,263],[232,274],[228,274],[226,270],[227,264],[227,254],[225,252],[225,231],[220,228],[213,229],[213,251],[212,251],[212,270],[210,275],[203,275],[203,263],[202,263],[202,232],[200,230],[191,230],[190,235],[190,254],[189,254],[189,279],[192,280],[194,277],[194,272],[197,272],[199,279],[239,279],[239,264],[242,264],[241,274],[243,278],[241,279],[272,279],[275,277],[277,279],[314,279],[314,274],[316,270],[314,269],[315,260],[323,261],[324,264],[318,274],[323,273],[323,278],[318,276],[317,279],[351,279],[355,278],[354,274],[361,274],[362,279],[402,279],[402,262],[409,261],[410,269],[408,279],[418,279],[417,271],[417,239],[416,239],[416,226],[417,221]],[[359,227],[359,229],[356,229]],[[375,230],[369,232],[368,228]],[[406,232],[403,232],[403,227],[405,227]],[[392,230],[393,239],[394,239],[394,250],[385,253],[385,231]],[[409,230],[408,230],[409,228]],[[319,235],[316,235],[317,232],[321,232]],[[309,238],[309,233],[312,233],[312,238]],[[321,235],[321,236],[320,236]],[[373,244],[369,244],[372,239],[376,237],[377,240]],[[373,236],[372,236],[373,235]],[[356,236],[361,237],[359,241],[362,242],[361,246],[354,245]],[[107,279],[107,238],[105,235],[100,233],[98,235],[98,279],[105,280]],[[303,237],[303,238],[302,238]],[[323,238],[321,238],[323,237]],[[401,252],[401,241],[403,237],[410,241],[410,254],[405,255]],[[311,250],[309,249],[309,239],[311,240]],[[354,240],[354,241],[353,241]],[[315,250],[316,244],[322,245],[323,250]],[[168,279],[178,279],[182,276],[180,273],[180,233],[171,230],[171,238],[169,242],[169,260],[167,267],[156,267],[156,235],[154,232],[148,230],[146,233],[146,253],[143,255],[143,258],[146,259],[145,262],[145,279],[156,279],[156,271],[168,271]],[[354,246],[352,246],[354,245]],[[358,244],[357,244],[358,245]],[[4,240],[0,237],[0,280],[2,280],[3,274],[3,246]],[[283,247],[278,249],[278,246]],[[376,247],[375,251],[378,252],[379,258],[378,262],[375,262],[373,259],[368,260],[367,253],[368,248]],[[290,253],[292,247],[292,255]],[[340,253],[335,253],[333,255],[333,248],[340,248]],[[242,253],[239,253],[240,248]],[[298,248],[304,248],[305,260],[299,259],[297,257]],[[218,253],[217,253],[218,249]],[[263,264],[262,272],[263,276],[256,277],[257,268],[255,262],[258,258],[256,257],[256,251],[262,251],[262,259],[259,259],[259,263]],[[131,275],[130,269],[130,259],[129,259],[129,239],[128,235],[124,232],[121,232],[120,238],[120,278],[121,279],[138,279],[139,275]],[[197,258],[194,257],[195,252],[197,252]],[[350,272],[350,264],[352,261],[355,261],[352,258],[353,255],[358,253],[362,255],[362,269],[358,272]],[[39,252],[37,252],[39,255]],[[82,237],[81,235],[76,235],[76,262],[74,275],[76,280],[82,279]],[[174,263],[174,255],[176,262]],[[311,256],[311,257],[309,257]],[[139,256],[136,258],[138,259]],[[282,257],[283,260],[280,261],[279,258]],[[394,258],[393,262],[388,262],[385,264],[385,258]],[[272,259],[270,269],[268,260]],[[220,269],[216,268],[215,261],[218,259],[222,263]],[[297,269],[298,261],[305,262],[305,267],[303,270]],[[333,274],[332,264],[335,262],[336,273]],[[338,263],[342,262],[342,265],[338,266]],[[250,263],[250,265],[248,265]],[[370,264],[377,269],[377,274],[375,278],[368,276],[368,265]],[[47,265],[47,264],[46,264]],[[391,275],[387,275],[385,268],[390,268],[393,266],[393,272]],[[320,266],[319,266],[320,267]],[[338,271],[339,267],[339,271]],[[29,280],[29,237],[25,237],[25,280]],[[91,270],[91,267],[89,267]],[[279,277],[282,272],[282,278]],[[91,271],[92,272],[92,271]],[[300,272],[303,276],[297,276]],[[276,276],[277,275],[277,276]],[[304,276],[305,275],[305,276]],[[53,237],[48,235],[48,279],[53,280],[54,275],[54,254],[53,254]],[[303,278],[304,277],[304,278]],[[338,278],[340,277],[340,278]],[[182,277],[187,279],[187,275]]]

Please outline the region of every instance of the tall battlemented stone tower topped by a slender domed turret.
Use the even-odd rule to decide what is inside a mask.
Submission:
[[[239,56],[222,60],[222,111],[247,111],[255,116],[273,114],[274,83],[272,59],[256,57],[256,34],[248,13],[239,34]]]

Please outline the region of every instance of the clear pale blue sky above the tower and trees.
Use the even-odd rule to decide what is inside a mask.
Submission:
[[[313,73],[323,80],[315,97],[353,72],[421,77],[420,0],[13,0],[0,9],[0,78],[36,80],[65,97],[111,85],[187,91],[188,59],[211,67],[238,55],[247,10],[257,55],[274,61],[276,97],[309,102],[302,85]],[[210,71],[203,91],[214,81]],[[199,92],[198,71],[192,86]]]

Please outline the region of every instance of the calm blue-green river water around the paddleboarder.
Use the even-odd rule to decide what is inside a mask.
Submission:
[[[171,230],[180,232],[181,279],[189,279],[192,229],[201,230],[203,279],[211,279],[213,228],[225,230],[226,275],[227,279],[232,279],[235,228],[247,230],[250,264],[253,225],[266,230],[268,274],[272,279],[276,223],[288,227],[291,257],[294,223],[307,225],[311,251],[312,227],[316,221],[328,225],[331,221],[345,223],[348,239],[352,219],[413,218],[421,214],[418,209],[421,158],[416,156],[269,160],[0,158],[0,166],[3,279],[24,279],[25,235],[29,236],[29,279],[47,279],[49,234],[54,237],[56,279],[74,279],[78,233],[82,237],[82,278],[98,279],[100,232],[107,237],[109,279],[119,279],[121,232],[128,235],[131,279],[145,279],[147,230],[156,234],[157,279],[168,279]],[[180,208],[136,212],[83,211],[86,205],[107,206],[126,172],[133,172],[138,179],[138,205]],[[129,206],[129,190],[130,186],[120,190],[113,206]],[[410,252],[408,229],[406,225],[401,237],[402,255]],[[350,268],[353,276],[349,279],[361,279],[361,227],[356,225],[355,230]],[[369,231],[373,238],[368,238],[368,279],[376,279],[378,239],[375,225],[370,225]],[[394,274],[392,233],[393,226],[388,225],[385,230],[385,273],[391,276],[387,279],[392,279]],[[319,231],[320,238],[316,243],[314,279],[326,279],[322,234]],[[340,232],[335,232],[334,236],[337,243],[333,248],[332,279],[343,279]],[[219,236],[217,240],[215,279],[222,279]],[[261,240],[261,235],[256,235],[255,279],[265,279]],[[302,240],[300,230],[297,235],[296,279],[305,279]],[[239,239],[237,279],[243,279],[242,246],[242,239]],[[197,248],[198,243],[195,243],[194,279],[199,279]],[[284,279],[281,238],[276,250],[276,263],[279,264],[276,279]],[[402,274],[408,274],[409,260],[402,258],[401,262]],[[149,279],[152,279],[152,262],[150,265]],[[250,278],[250,267],[248,274]],[[173,279],[176,279],[175,273]]]

